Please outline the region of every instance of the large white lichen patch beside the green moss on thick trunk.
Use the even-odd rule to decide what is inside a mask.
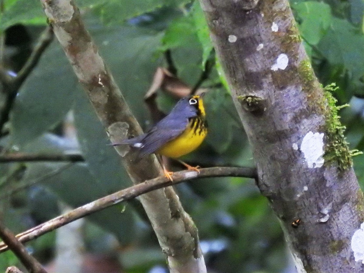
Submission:
[[[308,132],[301,143],[301,152],[309,168],[320,168],[324,164],[324,133]]]

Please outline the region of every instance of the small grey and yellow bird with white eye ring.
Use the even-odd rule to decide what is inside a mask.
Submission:
[[[207,121],[202,97],[193,95],[179,100],[171,112],[149,132],[113,145],[128,144],[138,149],[140,159],[151,153],[176,159],[197,149],[206,134]],[[178,161],[188,169],[199,172],[198,166],[192,167],[181,160]],[[168,172],[164,165],[163,171],[172,181],[171,172]]]

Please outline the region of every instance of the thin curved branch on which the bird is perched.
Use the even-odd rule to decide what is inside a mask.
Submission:
[[[147,180],[143,183],[131,186],[124,190],[115,192],[113,194],[104,196],[103,198],[92,201],[81,207],[75,208],[70,212],[67,212],[65,214],[59,215],[54,219],[51,219],[50,221],[42,223],[27,231],[24,231],[23,233],[19,233],[18,235],[16,235],[16,237],[20,242],[23,243],[28,242],[32,239],[38,238],[40,235],[48,233],[72,221],[90,215],[96,211],[113,206],[120,202],[131,200],[147,192],[179,184],[190,179],[223,177],[223,176],[246,177],[253,179],[257,178],[256,169],[246,168],[246,167],[213,167],[213,168],[203,168],[200,169],[199,171],[200,171],[199,173],[195,171],[175,172],[172,175],[173,181],[168,180],[165,176],[159,176],[157,178]],[[7,246],[4,243],[0,243],[0,253],[4,252],[5,250],[7,250]]]

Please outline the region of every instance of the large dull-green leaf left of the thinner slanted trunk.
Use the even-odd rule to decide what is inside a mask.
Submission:
[[[14,144],[25,145],[58,125],[74,101],[77,80],[58,41],[21,86],[10,116]]]

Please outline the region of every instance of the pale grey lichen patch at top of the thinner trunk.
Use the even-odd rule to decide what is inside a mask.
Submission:
[[[70,21],[75,12],[70,0],[42,0],[42,3],[44,4],[44,12],[46,13],[47,17],[54,21]]]

